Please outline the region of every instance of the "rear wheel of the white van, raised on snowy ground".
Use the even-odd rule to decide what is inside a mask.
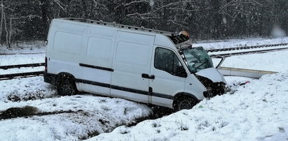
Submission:
[[[77,93],[76,84],[71,77],[60,76],[57,83],[57,91],[60,96],[72,96]]]

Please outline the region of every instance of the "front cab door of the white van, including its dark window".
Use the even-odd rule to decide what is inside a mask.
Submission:
[[[186,72],[177,54],[165,47],[156,47],[151,64],[154,79],[149,84],[152,91],[151,101],[156,105],[172,107],[173,96],[184,92]],[[183,74],[186,75],[183,75]]]

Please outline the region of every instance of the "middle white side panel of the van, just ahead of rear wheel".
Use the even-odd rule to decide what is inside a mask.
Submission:
[[[85,40],[85,53],[79,66],[83,68],[83,77],[78,82],[84,90],[110,96],[112,61],[116,29],[90,26]]]

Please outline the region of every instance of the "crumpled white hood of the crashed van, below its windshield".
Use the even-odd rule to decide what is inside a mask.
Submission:
[[[224,82],[227,84],[224,76],[217,70],[217,68],[206,68],[198,71],[196,75],[207,77],[208,79],[212,80],[212,82]]]

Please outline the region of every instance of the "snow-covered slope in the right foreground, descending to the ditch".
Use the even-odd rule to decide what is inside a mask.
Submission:
[[[287,140],[288,72],[265,75],[167,117],[90,140]]]

